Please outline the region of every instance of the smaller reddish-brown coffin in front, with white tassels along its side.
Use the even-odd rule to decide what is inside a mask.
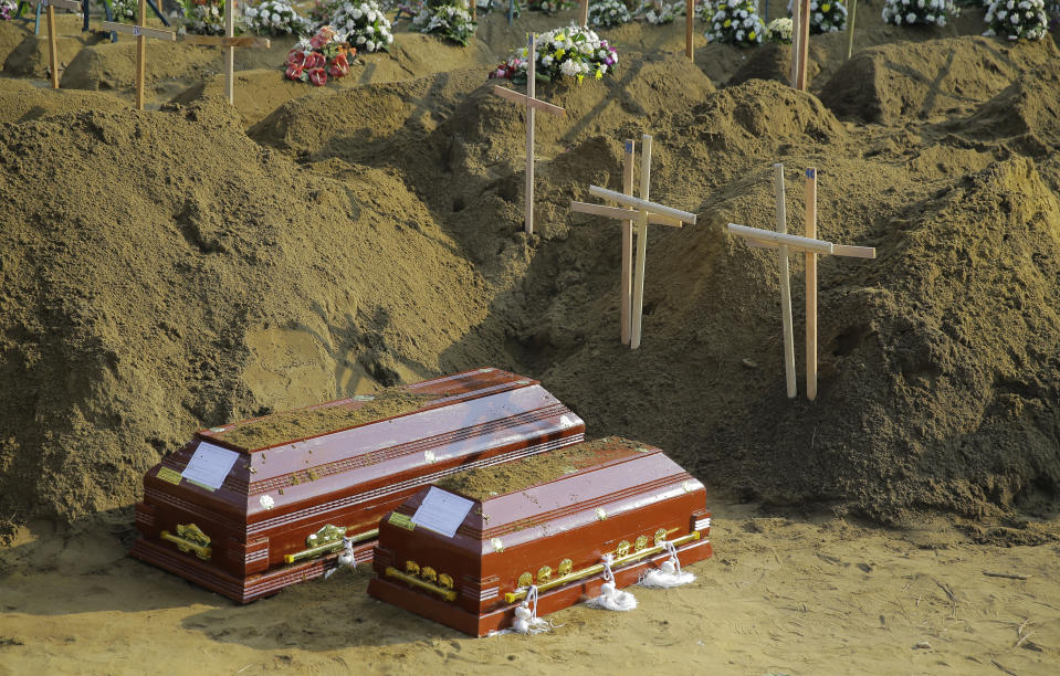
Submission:
[[[452,537],[431,529],[463,509]],[[710,524],[703,484],[659,448],[587,442],[418,492],[380,522],[368,593],[483,636],[512,625],[531,584],[539,615],[599,595],[605,553],[619,588],[665,561],[665,541],[682,564],[705,559]]]

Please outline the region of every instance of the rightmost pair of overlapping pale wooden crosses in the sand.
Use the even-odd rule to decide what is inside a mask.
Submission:
[[[795,336],[791,329],[791,283],[788,278],[789,252],[806,254],[806,397],[817,399],[817,254],[874,258],[871,246],[847,246],[817,239],[817,169],[806,170],[806,236],[787,234],[784,210],[784,165],[776,163],[774,186],[777,193],[777,232],[728,224],[728,231],[746,240],[751,246],[776,249],[780,253],[780,318],[784,325],[784,372],[788,399],[796,395]]]

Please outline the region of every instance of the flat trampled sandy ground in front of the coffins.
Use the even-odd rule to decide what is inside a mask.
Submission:
[[[713,508],[715,556],[691,587],[633,588],[633,612],[579,606],[549,616],[552,633],[489,638],[370,599],[365,567],[237,606],[125,557],[119,514],[112,535],[38,522],[0,552],[0,674],[1057,672],[1060,546]]]

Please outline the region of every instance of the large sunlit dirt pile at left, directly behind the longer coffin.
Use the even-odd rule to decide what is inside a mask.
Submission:
[[[7,514],[127,505],[196,427],[485,361],[442,353],[480,283],[386,171],[302,171],[214,105],[0,137]]]

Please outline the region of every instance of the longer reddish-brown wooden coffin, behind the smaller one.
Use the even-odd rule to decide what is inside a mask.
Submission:
[[[380,517],[424,485],[584,435],[538,381],[497,369],[201,431],[144,477],[130,553],[248,602],[334,568],[344,536],[369,561]]]

